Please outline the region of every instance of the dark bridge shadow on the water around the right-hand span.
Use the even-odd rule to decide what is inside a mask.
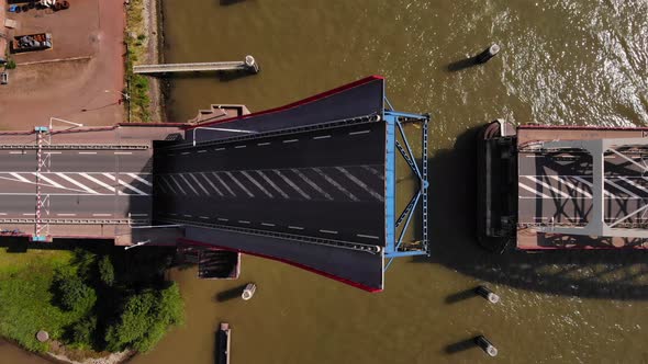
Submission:
[[[494,284],[540,293],[615,299],[648,299],[646,252],[638,250],[556,250],[495,254],[480,248],[477,228],[477,143],[479,128],[465,132],[429,166],[431,258],[437,263]],[[467,297],[457,293],[448,303]]]

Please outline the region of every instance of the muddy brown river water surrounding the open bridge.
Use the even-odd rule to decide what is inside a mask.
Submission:
[[[233,363],[648,362],[646,253],[493,255],[473,238],[477,126],[648,125],[646,1],[167,0],[164,11],[167,61],[252,54],[261,66],[172,79],[170,121],[211,103],[259,111],[367,75],[387,78],[398,110],[429,112],[433,251],[395,262],[378,294],[253,257],[238,281],[174,271],[187,322],[133,363],[213,363],[220,321]],[[500,55],[461,67],[491,42]],[[399,186],[409,198],[412,181]],[[226,299],[250,281],[252,300]],[[469,294],[481,283],[500,304]],[[466,344],[480,333],[498,359]]]

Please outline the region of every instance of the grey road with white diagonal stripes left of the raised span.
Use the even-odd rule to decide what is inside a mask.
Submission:
[[[43,218],[147,217],[152,150],[0,150],[0,219],[33,218],[36,185],[48,195]]]

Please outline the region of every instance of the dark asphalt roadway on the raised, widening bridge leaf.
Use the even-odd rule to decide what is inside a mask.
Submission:
[[[384,124],[156,150],[157,218],[384,246]]]

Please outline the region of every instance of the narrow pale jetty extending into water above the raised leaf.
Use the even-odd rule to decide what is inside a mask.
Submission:
[[[259,65],[253,56],[245,56],[244,60],[214,61],[197,64],[165,64],[133,66],[133,72],[138,75],[160,75],[178,72],[213,72],[213,71],[248,71],[259,72]]]

